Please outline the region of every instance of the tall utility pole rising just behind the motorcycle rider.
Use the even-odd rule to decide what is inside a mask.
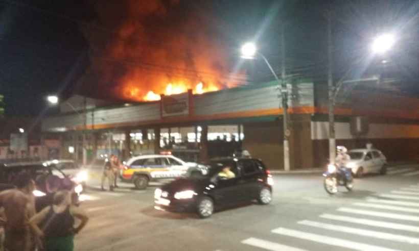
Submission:
[[[329,88],[329,161],[335,164],[335,87],[333,86],[333,58],[332,58],[332,13],[328,10],[328,88]]]

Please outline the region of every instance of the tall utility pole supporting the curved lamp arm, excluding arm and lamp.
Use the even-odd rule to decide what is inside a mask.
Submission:
[[[282,109],[284,110],[284,170],[290,170],[290,147],[288,143],[288,137],[290,136],[290,130],[288,129],[288,87],[285,76],[285,34],[284,24],[281,25],[281,94],[282,94]]]

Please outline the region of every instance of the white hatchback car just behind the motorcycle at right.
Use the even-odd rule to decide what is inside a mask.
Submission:
[[[386,174],[387,159],[377,149],[352,149],[348,152],[351,161],[346,164],[355,177],[361,178],[365,173],[376,172]]]

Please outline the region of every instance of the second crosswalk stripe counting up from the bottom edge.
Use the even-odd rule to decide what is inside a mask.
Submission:
[[[364,244],[360,242],[349,241],[345,239],[339,239],[339,238],[334,238],[334,237],[329,237],[329,236],[324,236],[324,235],[311,234],[307,232],[286,229],[286,228],[277,228],[277,229],[272,230],[271,232],[275,234],[290,236],[290,237],[299,238],[299,239],[311,240],[311,241],[315,241],[315,242],[319,242],[319,243],[323,243],[327,245],[340,246],[340,247],[345,247],[345,248],[350,248],[350,249],[355,249],[355,250],[362,250],[362,251],[364,250],[365,251],[394,251],[396,250],[396,249],[374,246],[374,245],[369,245],[369,244]]]

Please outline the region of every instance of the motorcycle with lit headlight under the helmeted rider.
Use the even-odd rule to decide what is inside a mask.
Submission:
[[[328,170],[323,173],[324,190],[329,194],[338,192],[338,186],[345,186],[348,191],[354,188],[352,170],[347,167],[338,167],[334,164],[328,165]]]

